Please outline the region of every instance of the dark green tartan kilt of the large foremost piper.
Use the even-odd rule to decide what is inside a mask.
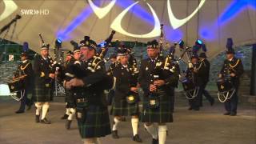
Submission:
[[[110,118],[106,106],[80,106],[77,103],[76,117],[82,138],[99,138],[111,134]]]

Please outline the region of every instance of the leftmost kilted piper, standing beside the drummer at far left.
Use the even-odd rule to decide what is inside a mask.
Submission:
[[[49,45],[43,44],[41,54],[36,55],[34,58],[35,122],[42,122],[44,124],[50,124],[50,121],[46,118],[46,114],[50,107],[50,101],[53,100],[50,90],[54,81],[54,70],[52,68],[52,60],[48,56]]]

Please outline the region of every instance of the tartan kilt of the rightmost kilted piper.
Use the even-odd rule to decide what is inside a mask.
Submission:
[[[151,109],[149,106],[148,96],[144,96],[142,105],[141,122],[158,122],[166,123],[173,122],[172,102],[170,95],[165,92],[159,92],[159,106]]]

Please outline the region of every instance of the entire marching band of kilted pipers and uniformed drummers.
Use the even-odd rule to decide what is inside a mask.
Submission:
[[[62,67],[50,58],[49,45],[45,43],[41,54],[35,56],[33,66],[28,55],[22,53],[22,63],[9,83],[10,90],[18,91],[18,100],[21,101],[16,113],[23,113],[26,105],[30,109],[34,103],[35,122],[50,124],[47,113],[54,98],[54,82],[57,79],[65,87],[66,114],[62,119],[66,119],[66,129],[69,130],[73,119],[77,118],[78,130],[85,143],[99,143],[98,138],[108,134],[112,134],[112,138],[120,138],[118,130],[122,127],[118,125],[130,116],[134,142],[142,142],[138,123],[143,122],[152,136],[152,143],[164,144],[166,123],[174,121],[174,89],[178,82],[182,83],[189,110],[200,110],[202,95],[211,106],[214,105],[214,98],[205,90],[210,62],[206,59],[203,46],[199,46],[200,49],[185,48],[184,42],[179,42],[183,51],[181,58],[174,56],[175,46],[171,46],[169,54],[163,56],[161,36],[159,42],[147,42],[148,58],[142,59],[138,67],[132,49],[120,45],[116,54],[110,56],[111,64],[106,70],[105,55],[113,36],[114,31],[100,50],[94,40],[85,36],[79,45],[74,45],[73,51],[68,52]],[[232,47],[226,50],[226,60],[217,80],[219,101],[224,102],[225,115],[230,116],[237,114],[239,78],[243,73],[242,61],[234,54]],[[186,71],[180,70],[178,65],[184,55],[188,59]],[[29,99],[27,94],[34,97]],[[109,113],[113,115],[111,121]]]

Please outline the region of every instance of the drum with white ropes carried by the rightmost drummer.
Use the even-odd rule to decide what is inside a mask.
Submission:
[[[216,84],[218,87],[219,102],[226,102],[228,99],[232,98],[234,93],[236,92],[229,74],[222,78],[218,78]]]

